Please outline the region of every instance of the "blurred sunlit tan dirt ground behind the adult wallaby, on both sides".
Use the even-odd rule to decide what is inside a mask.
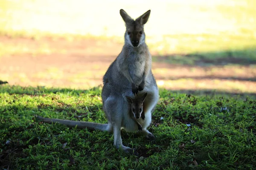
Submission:
[[[114,40],[0,37],[0,80],[10,85],[92,88],[102,84],[108,66],[122,49]],[[157,56],[151,51],[153,57]],[[157,60],[160,61],[160,60]],[[204,62],[203,60],[201,62]],[[160,88],[256,93],[255,65],[177,65],[153,62]]]

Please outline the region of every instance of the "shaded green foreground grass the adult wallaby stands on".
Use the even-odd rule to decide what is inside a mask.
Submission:
[[[156,140],[122,131],[123,144],[136,148],[143,158],[113,147],[111,133],[45,124],[33,117],[106,123],[100,94],[101,88],[0,86],[1,166],[15,170],[256,167],[256,104],[250,97],[160,90],[149,127]]]

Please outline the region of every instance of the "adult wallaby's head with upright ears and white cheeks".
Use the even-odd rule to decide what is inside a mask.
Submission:
[[[133,20],[123,9],[120,9],[120,15],[125,21],[125,42],[128,42],[133,47],[145,43],[144,24],[147,23],[150,15],[150,10],[146,11],[143,15]]]

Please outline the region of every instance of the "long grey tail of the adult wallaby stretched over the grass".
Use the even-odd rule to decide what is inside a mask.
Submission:
[[[35,116],[37,119],[41,119],[45,123],[60,123],[61,125],[66,125],[68,127],[77,127],[77,128],[88,128],[90,130],[102,130],[102,131],[110,131],[109,124],[100,124],[93,122],[79,122],[72,120],[63,120],[63,119],[49,119],[44,118],[42,116]]]

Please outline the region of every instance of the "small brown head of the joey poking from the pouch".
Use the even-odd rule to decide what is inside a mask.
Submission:
[[[145,93],[143,96],[132,99],[131,97],[126,96],[127,101],[131,104],[131,111],[136,117],[136,119],[140,119],[141,113],[143,111],[143,102],[148,93]]]

